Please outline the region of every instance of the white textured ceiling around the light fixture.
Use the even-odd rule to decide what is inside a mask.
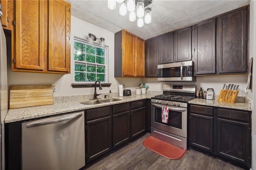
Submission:
[[[71,15],[116,33],[122,29],[147,40],[166,32],[223,14],[250,4],[250,0],[153,0],[152,22],[137,27],[128,14],[119,15],[119,6],[108,9],[107,0],[66,0],[71,3]]]

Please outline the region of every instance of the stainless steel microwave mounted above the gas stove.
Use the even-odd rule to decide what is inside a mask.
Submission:
[[[158,81],[196,81],[193,61],[159,64],[157,69]]]

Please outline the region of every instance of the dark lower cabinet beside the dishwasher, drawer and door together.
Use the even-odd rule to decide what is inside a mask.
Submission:
[[[111,148],[111,107],[86,111],[86,162],[108,152]]]

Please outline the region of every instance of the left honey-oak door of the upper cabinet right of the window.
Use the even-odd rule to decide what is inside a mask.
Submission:
[[[122,76],[135,76],[134,47],[135,36],[125,30],[122,32]]]

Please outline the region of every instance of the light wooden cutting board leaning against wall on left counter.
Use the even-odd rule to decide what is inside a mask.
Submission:
[[[13,85],[10,86],[10,109],[52,105],[51,85]]]

